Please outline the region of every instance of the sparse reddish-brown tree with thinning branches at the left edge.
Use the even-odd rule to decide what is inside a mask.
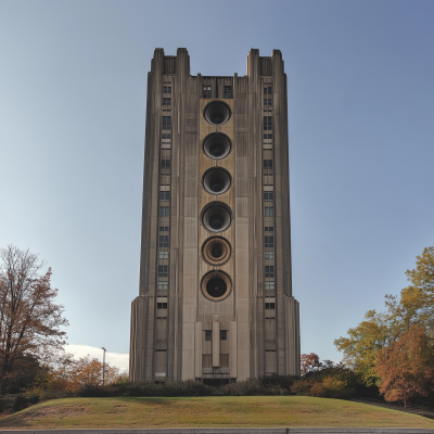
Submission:
[[[63,306],[55,304],[51,268],[28,250],[9,245],[0,250],[0,395],[14,367],[28,356],[43,358],[62,349],[68,324]]]

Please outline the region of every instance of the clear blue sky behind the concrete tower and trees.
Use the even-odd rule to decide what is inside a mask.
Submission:
[[[0,246],[47,259],[72,344],[128,353],[154,49],[193,75],[280,49],[302,352],[340,360],[434,243],[433,23],[434,1],[0,1]]]

